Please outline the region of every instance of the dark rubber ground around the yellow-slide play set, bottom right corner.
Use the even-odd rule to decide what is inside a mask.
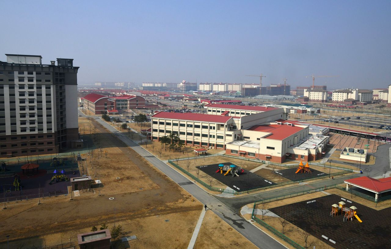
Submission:
[[[391,208],[377,211],[354,202],[354,198],[349,199],[353,203],[344,201],[345,206],[357,207],[357,216],[362,223],[356,218],[353,221],[344,222],[341,213],[338,216],[330,216],[331,205],[343,201],[339,195],[327,195],[314,200],[316,202],[310,204],[302,201],[270,210],[319,240],[326,242],[322,235],[334,240],[336,244],[327,243],[336,249],[386,249],[389,247]]]

